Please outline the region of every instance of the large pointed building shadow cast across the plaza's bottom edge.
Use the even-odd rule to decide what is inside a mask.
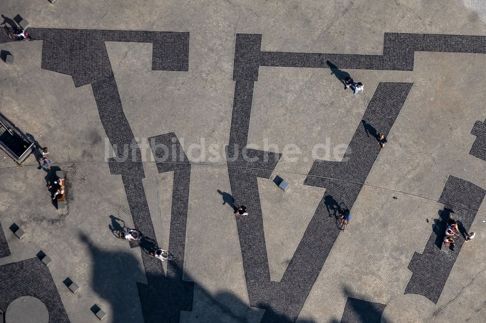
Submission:
[[[194,289],[190,292],[193,295],[199,294],[193,298],[191,310],[176,310],[171,311],[171,305],[160,304],[157,299],[150,299],[139,295],[137,285],[144,283],[139,282],[139,277],[145,275],[144,269],[139,263],[139,259],[129,252],[119,250],[102,249],[98,247],[87,235],[80,234],[82,242],[86,243],[90,252],[91,259],[87,259],[92,264],[92,281],[91,288],[95,293],[110,303],[113,308],[110,322],[123,322],[130,319],[130,322],[252,322],[250,318],[258,316],[263,311],[256,307],[249,307],[245,302],[232,291],[218,291],[211,294],[206,289],[202,288],[187,272],[184,273],[184,281],[194,282]],[[116,242],[117,240],[114,240]],[[128,247],[128,246],[127,246]],[[143,251],[142,251],[143,252]],[[158,261],[158,260],[157,260]],[[149,279],[150,278],[150,279]],[[150,284],[150,282],[160,281],[167,289],[159,289],[159,284]],[[171,285],[180,286],[184,281],[171,278],[168,275],[147,276],[149,282],[146,289],[151,289],[150,294],[169,293],[169,297],[177,297],[177,293],[171,292]],[[156,286],[157,285],[157,286]],[[192,295],[191,295],[192,296]],[[158,297],[157,297],[158,298]],[[177,299],[174,299],[177,302]],[[224,304],[222,303],[224,301]],[[143,311],[142,303],[149,303],[152,313],[147,315]],[[196,304],[204,302],[204,304]],[[143,312],[143,317],[136,317],[142,315],[139,311],[140,305]],[[166,308],[168,307],[168,308]],[[206,308],[203,313],[194,311],[195,307]],[[214,310],[217,308],[218,310]],[[265,311],[273,312],[271,308]],[[160,313],[158,320],[155,320],[155,313]],[[171,313],[172,312],[172,315]],[[182,314],[184,312],[184,314]],[[202,317],[201,317],[202,316]],[[279,317],[278,323],[290,323],[285,317]],[[312,320],[297,320],[297,323],[314,323]],[[338,322],[338,321],[333,321]]]

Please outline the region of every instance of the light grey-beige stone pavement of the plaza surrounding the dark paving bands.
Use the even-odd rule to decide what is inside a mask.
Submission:
[[[232,194],[225,146],[236,33],[262,34],[261,51],[369,55],[382,55],[385,32],[486,36],[484,4],[466,0],[5,0],[0,12],[20,14],[29,28],[190,32],[186,72],[152,70],[151,43],[106,42],[134,136],[144,141],[175,132],[191,161],[183,262],[184,280],[195,287],[192,310],[180,313],[184,323],[265,318],[248,296],[237,219],[217,192]],[[145,300],[137,287],[147,283],[143,251],[108,227],[110,215],[134,224],[122,178],[110,173],[113,149],[92,87],[74,87],[71,76],[41,69],[42,46],[40,40],[0,44],[15,55],[13,65],[0,62],[0,112],[50,148],[53,165],[67,174],[68,211],[52,205],[46,172],[37,170],[33,156],[17,166],[0,152],[0,224],[11,251],[0,266],[42,250],[53,259],[49,271],[71,322],[97,322],[94,304],[107,313],[104,322],[143,322]],[[437,303],[404,293],[409,263],[424,252],[444,208],[437,201],[449,176],[486,189],[486,161],[469,154],[476,140],[471,129],[486,119],[486,54],[417,51],[414,57],[413,71],[342,68],[364,83],[355,97],[329,68],[259,68],[248,144],[280,153],[294,144],[300,151],[287,147],[272,176],[258,178],[275,282],[326,192],[304,185],[312,150],[329,140],[330,156],[317,159],[341,161],[379,83],[414,83],[354,202],[350,226],[333,244],[298,314],[302,322],[340,322],[349,297],[386,305],[381,322],[486,321],[484,203],[470,227],[476,238],[460,249]],[[202,143],[205,156],[195,146]],[[158,173],[150,147],[140,149],[156,240],[168,246],[174,172]],[[277,175],[289,181],[286,192],[272,181]],[[26,232],[22,240],[9,230],[14,222]],[[75,294],[63,283],[68,276],[80,286]]]

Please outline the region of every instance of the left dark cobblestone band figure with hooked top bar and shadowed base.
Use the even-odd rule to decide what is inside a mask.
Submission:
[[[91,84],[101,123],[116,155],[108,161],[110,172],[122,177],[134,226],[156,241],[142,185],[145,174],[139,146],[123,112],[104,42],[153,43],[153,70],[187,71],[189,33],[40,28],[29,32],[35,39],[44,40],[42,68],[72,76],[75,86]],[[158,143],[172,137],[176,139],[169,133],[154,140]],[[164,168],[164,164],[157,163],[157,168],[159,172],[174,170],[169,249],[176,259],[168,263],[165,275],[162,262],[141,251],[148,285],[137,285],[145,322],[158,322],[161,317],[166,322],[179,322],[180,310],[191,310],[194,285],[182,281],[191,165],[185,158],[183,167]]]

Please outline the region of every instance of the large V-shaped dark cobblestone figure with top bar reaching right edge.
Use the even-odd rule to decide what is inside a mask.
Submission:
[[[270,281],[256,177],[269,178],[280,155],[245,148],[259,67],[327,68],[330,61],[347,69],[413,70],[415,51],[485,53],[484,45],[485,36],[385,33],[383,55],[262,52],[260,34],[236,35],[235,94],[226,149],[228,174],[236,203],[246,205],[249,210],[249,216],[237,217],[236,221],[250,305],[267,309],[262,322],[297,319],[338,235],[333,221],[326,221],[326,210],[342,203],[349,209],[352,207],[381,149],[375,136],[388,134],[412,83],[380,83],[343,162],[314,162],[304,183],[326,188],[326,196],[315,211],[283,278],[273,282]],[[241,158],[244,153],[267,159],[254,165]],[[327,233],[325,237],[323,232]]]

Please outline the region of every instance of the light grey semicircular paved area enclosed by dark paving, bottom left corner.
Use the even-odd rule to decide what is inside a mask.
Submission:
[[[5,323],[48,323],[49,311],[38,298],[21,296],[9,304]]]

